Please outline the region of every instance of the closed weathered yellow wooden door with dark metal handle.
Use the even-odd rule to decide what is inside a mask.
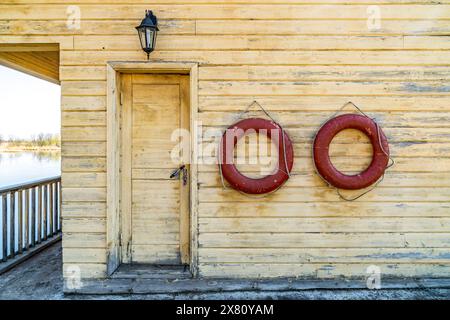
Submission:
[[[124,74],[122,95],[122,261],[187,264],[189,179],[169,176],[189,172],[172,138],[189,129],[189,77]]]

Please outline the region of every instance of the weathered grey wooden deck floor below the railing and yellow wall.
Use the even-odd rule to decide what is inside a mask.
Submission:
[[[408,282],[409,288],[400,288],[398,282],[383,282],[384,289],[367,290],[355,288],[347,283],[346,288],[330,289],[330,282],[298,281],[291,282],[290,288],[280,281],[251,280],[199,280],[190,279],[183,269],[173,268],[170,272],[157,271],[156,267],[122,266],[112,279],[95,282],[104,283],[104,288],[122,285],[122,294],[102,295],[64,295],[61,263],[61,243],[57,243],[40,254],[25,261],[0,276],[0,300],[15,299],[450,299],[449,279],[422,279]],[[170,268],[169,268],[170,269]],[[167,270],[167,269],[166,269]],[[151,276],[151,272],[159,272]],[[138,278],[129,278],[132,274]],[[161,275],[166,279],[161,278]],[[177,279],[173,279],[176,277]],[[184,277],[184,278],[183,278]],[[197,288],[196,292],[176,291],[186,287]],[[86,282],[86,289],[92,289],[94,283]],[[125,286],[123,286],[126,284]],[[278,285],[278,288],[276,287]],[[253,287],[252,287],[253,286]],[[256,287],[255,287],[256,286]],[[315,287],[314,287],[315,286]],[[352,287],[353,286],[353,287]],[[318,289],[322,287],[322,289]],[[125,290],[134,288],[135,294]],[[158,289],[159,288],[159,289]],[[208,289],[209,290],[205,290]],[[211,291],[211,288],[215,288]],[[222,290],[224,289],[224,290]],[[278,289],[278,290],[277,290]],[[165,291],[165,293],[162,293]],[[149,292],[153,291],[153,294]],[[156,293],[159,291],[159,293]],[[111,292],[111,291],[109,291]],[[139,292],[141,292],[139,294]]]

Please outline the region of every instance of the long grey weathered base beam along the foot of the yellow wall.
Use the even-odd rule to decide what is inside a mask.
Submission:
[[[450,288],[450,278],[383,279],[381,289]],[[366,279],[143,279],[109,278],[82,280],[82,286],[66,294],[179,294],[213,292],[281,292],[302,290],[367,290]]]

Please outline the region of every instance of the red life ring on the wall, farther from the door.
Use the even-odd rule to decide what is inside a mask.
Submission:
[[[356,175],[338,171],[328,154],[334,136],[345,129],[364,132],[372,143],[372,162],[366,170]],[[313,158],[320,176],[332,186],[347,190],[362,189],[375,183],[384,174],[389,162],[389,144],[381,128],[372,119],[358,114],[344,114],[327,121],[320,128],[314,139]]]

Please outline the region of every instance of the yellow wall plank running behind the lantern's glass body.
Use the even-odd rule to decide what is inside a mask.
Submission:
[[[79,35],[74,38],[75,50],[130,50],[137,49],[139,43],[135,35]],[[159,50],[404,50],[404,49],[448,49],[450,42],[446,36],[299,36],[299,35],[158,35]],[[93,70],[93,69],[92,69]],[[83,74],[95,75],[91,70]],[[66,76],[81,74],[71,69],[61,70]],[[227,76],[224,74],[223,76]],[[101,79],[100,79],[101,80]]]

